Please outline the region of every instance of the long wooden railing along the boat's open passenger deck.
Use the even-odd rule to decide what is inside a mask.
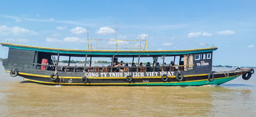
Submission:
[[[193,65],[172,65],[172,66],[62,66],[62,65],[46,65],[33,63],[33,65],[41,66],[38,70],[48,70],[53,67],[61,72],[161,72],[161,71],[186,71],[189,66]],[[44,66],[44,67],[42,67]],[[176,69],[178,67],[178,69]],[[36,67],[35,67],[36,68]],[[184,69],[185,68],[185,69]],[[51,70],[51,69],[49,69]]]

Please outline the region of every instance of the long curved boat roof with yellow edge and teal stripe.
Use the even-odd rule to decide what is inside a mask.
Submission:
[[[193,54],[193,53],[201,53],[201,52],[212,52],[217,50],[217,47],[210,48],[201,48],[201,49],[191,49],[191,50],[157,50],[157,51],[126,51],[126,50],[73,50],[73,49],[58,49],[58,48],[46,48],[46,47],[36,47],[36,46],[28,46],[28,45],[16,45],[16,44],[8,44],[1,43],[1,45],[13,48],[13,49],[21,49],[21,50],[31,50],[37,52],[51,52],[51,53],[60,53],[62,56],[79,56],[83,57],[86,54],[89,57],[155,57],[155,56],[179,56],[182,54]]]

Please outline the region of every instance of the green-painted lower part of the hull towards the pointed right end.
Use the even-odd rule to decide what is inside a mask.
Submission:
[[[240,75],[239,75],[240,76]],[[237,78],[238,76],[231,76],[228,78],[220,78],[220,79],[214,79],[212,82],[208,80],[203,81],[192,81],[192,82],[179,82],[179,83],[148,83],[148,84],[130,84],[130,85],[136,85],[136,86],[203,86],[203,85],[220,85],[223,83],[226,83],[230,80],[233,80]]]

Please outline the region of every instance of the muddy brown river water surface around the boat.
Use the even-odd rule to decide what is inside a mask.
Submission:
[[[256,116],[256,74],[220,86],[48,86],[11,77],[0,62],[0,80],[1,117]]]

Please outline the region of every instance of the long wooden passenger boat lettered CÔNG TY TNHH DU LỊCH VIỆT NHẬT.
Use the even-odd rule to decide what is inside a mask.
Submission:
[[[12,77],[46,85],[75,86],[203,86],[220,85],[242,75],[251,78],[254,69],[212,71],[213,51],[217,47],[191,50],[118,51],[118,50],[70,50],[1,43],[9,47],[8,58],[3,59],[5,72]],[[57,59],[55,58],[57,56]],[[108,66],[61,66],[60,56],[112,58]],[[174,57],[173,65],[156,66],[157,58]],[[151,66],[113,67],[122,58],[153,58]],[[175,57],[180,57],[175,61]],[[69,59],[70,62],[70,59]],[[137,61],[136,61],[137,62]],[[163,65],[162,64],[162,65]],[[174,65],[175,64],[175,65]]]

